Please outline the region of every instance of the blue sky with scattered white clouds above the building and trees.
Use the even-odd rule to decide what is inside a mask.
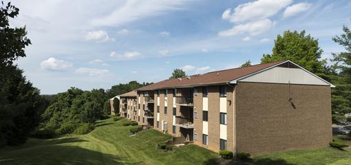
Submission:
[[[306,30],[330,58],[351,1],[14,1],[32,41],[18,65],[42,94],[157,82],[259,63],[277,34]]]

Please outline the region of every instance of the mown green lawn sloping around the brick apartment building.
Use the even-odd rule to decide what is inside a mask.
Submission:
[[[30,139],[23,146],[1,148],[0,164],[351,164],[350,148],[341,151],[329,147],[257,155],[247,162],[223,162],[217,153],[195,145],[169,153],[161,151],[156,144],[169,137],[155,130],[129,137],[130,126],[122,126],[121,121],[107,119],[96,126],[88,135]]]

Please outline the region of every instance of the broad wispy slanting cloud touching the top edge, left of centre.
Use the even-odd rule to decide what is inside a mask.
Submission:
[[[91,23],[98,26],[122,25],[146,17],[160,15],[171,10],[181,10],[181,5],[184,5],[186,2],[187,0],[129,0],[123,2],[120,7],[114,6],[115,9],[107,16],[93,19]]]

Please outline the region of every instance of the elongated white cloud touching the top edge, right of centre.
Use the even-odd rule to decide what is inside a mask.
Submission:
[[[292,0],[258,0],[237,5],[233,13],[227,9],[222,14],[222,19],[231,22],[257,21],[267,19],[279,10],[290,5]]]

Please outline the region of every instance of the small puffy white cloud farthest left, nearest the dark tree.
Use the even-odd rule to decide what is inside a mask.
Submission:
[[[40,63],[42,69],[62,71],[72,67],[72,63],[64,60],[59,60],[54,57],[47,58]]]

